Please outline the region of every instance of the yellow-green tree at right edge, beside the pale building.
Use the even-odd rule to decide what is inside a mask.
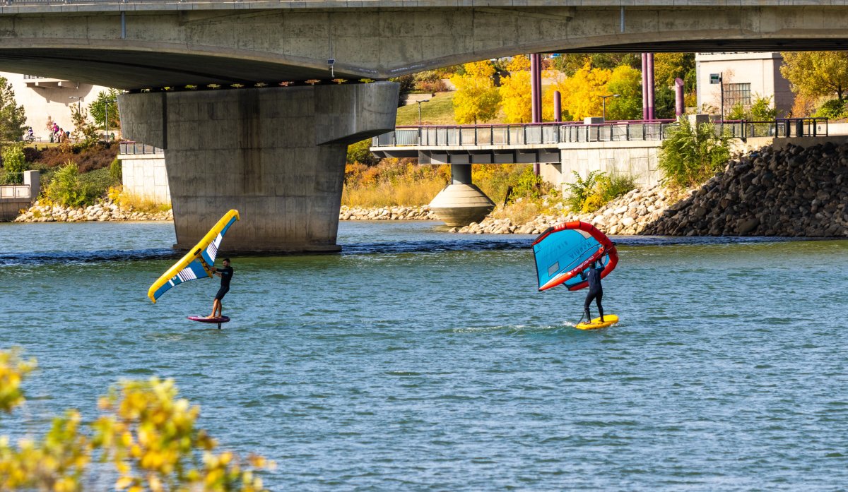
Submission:
[[[783,52],[780,73],[792,91],[805,97],[836,95],[848,89],[848,52]]]

